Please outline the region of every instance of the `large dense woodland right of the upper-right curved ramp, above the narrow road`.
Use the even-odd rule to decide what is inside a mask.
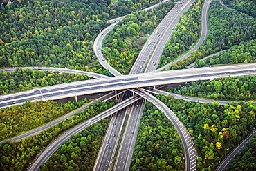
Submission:
[[[226,50],[242,41],[249,41],[256,37],[255,18],[235,9],[225,8],[219,1],[210,3],[208,18],[208,36],[199,50],[192,52],[190,57],[173,63],[167,70],[185,68],[196,59],[202,59],[208,54]]]

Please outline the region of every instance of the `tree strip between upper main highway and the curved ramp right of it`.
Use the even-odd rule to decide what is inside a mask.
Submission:
[[[161,68],[167,63],[172,62],[180,54],[189,50],[190,46],[199,39],[201,34],[202,2],[197,1],[188,11],[184,12],[172,32],[172,37],[168,40],[163,49],[163,54],[157,68]]]

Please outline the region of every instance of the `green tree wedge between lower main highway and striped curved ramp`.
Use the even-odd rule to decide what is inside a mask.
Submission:
[[[146,102],[130,170],[184,170],[183,157],[183,143],[170,120]]]

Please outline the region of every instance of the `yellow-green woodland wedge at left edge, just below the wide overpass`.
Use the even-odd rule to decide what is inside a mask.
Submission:
[[[0,141],[10,139],[21,132],[26,132],[37,128],[44,123],[48,123],[62,117],[64,114],[80,108],[84,101],[68,103],[57,103],[55,101],[27,101],[22,105],[13,105],[11,107],[0,109]]]

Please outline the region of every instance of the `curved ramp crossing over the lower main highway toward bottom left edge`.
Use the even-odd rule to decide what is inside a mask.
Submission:
[[[122,101],[117,105],[114,105],[112,108],[109,108],[108,110],[96,115],[95,117],[92,117],[91,119],[89,119],[89,121],[84,121],[83,123],[80,123],[80,125],[77,125],[74,128],[67,130],[66,132],[64,132],[64,134],[55,139],[55,141],[53,141],[44,149],[42,154],[40,154],[39,157],[37,157],[33,164],[30,165],[30,168],[28,170],[39,170],[39,167],[43,165],[51,157],[51,155],[60,147],[60,145],[62,145],[62,143],[64,143],[64,141],[70,139],[71,135],[81,132],[82,130],[89,127],[93,123],[96,123],[101,119],[109,117],[111,114],[119,111],[122,108],[125,108],[127,105],[130,105],[131,103],[134,103],[139,99],[141,99],[141,97],[138,97],[137,95],[130,97],[129,99]]]

